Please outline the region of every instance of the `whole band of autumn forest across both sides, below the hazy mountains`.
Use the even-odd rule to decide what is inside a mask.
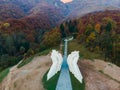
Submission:
[[[120,11],[89,13],[79,19],[66,21],[49,31],[34,26],[34,23],[16,19],[0,24],[2,68],[59,45],[62,38],[71,35],[90,52],[102,53],[105,60],[120,65]]]

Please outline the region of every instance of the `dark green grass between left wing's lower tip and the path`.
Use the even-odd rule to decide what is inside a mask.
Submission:
[[[58,79],[59,79],[60,72],[58,72],[55,76],[53,76],[48,81],[47,81],[47,74],[48,74],[48,71],[43,76],[43,79],[42,79],[43,86],[44,86],[45,90],[55,90]]]

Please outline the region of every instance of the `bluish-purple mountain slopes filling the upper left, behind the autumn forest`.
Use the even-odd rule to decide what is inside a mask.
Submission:
[[[56,26],[67,14],[59,0],[0,0],[0,6],[0,21],[15,18],[40,29]]]

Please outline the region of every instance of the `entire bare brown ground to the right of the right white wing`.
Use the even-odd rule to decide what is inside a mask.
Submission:
[[[120,83],[117,79],[119,78],[120,73],[119,67],[115,65],[113,65],[113,68],[107,66],[108,71],[106,71],[105,68],[108,63],[101,60],[80,60],[78,65],[85,79],[85,90],[120,90]],[[111,71],[109,69],[111,69]],[[118,73],[110,75],[112,69],[114,72]],[[117,79],[118,81],[114,79]]]

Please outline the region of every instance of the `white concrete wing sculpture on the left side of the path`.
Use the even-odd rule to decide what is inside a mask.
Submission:
[[[62,55],[56,50],[52,50],[51,59],[52,59],[52,66],[51,66],[51,68],[50,68],[50,70],[47,74],[47,80],[49,80],[58,71],[61,70],[61,65],[62,65],[62,62],[63,62]]]

